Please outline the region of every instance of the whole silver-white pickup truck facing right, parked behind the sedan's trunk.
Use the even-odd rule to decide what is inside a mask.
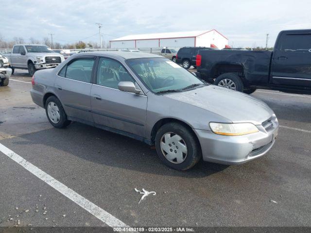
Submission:
[[[34,75],[38,69],[57,67],[64,56],[51,50],[46,45],[14,45],[12,53],[6,55],[9,58],[12,73],[15,68],[28,69],[30,75]]]

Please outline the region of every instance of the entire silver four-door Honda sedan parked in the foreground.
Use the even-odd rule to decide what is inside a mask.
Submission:
[[[201,157],[226,165],[258,158],[278,131],[262,101],[149,53],[78,53],[37,71],[32,84],[33,101],[54,127],[78,121],[135,138],[155,145],[162,162],[177,170]]]

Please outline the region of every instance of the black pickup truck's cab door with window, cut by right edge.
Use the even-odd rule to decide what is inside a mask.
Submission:
[[[272,61],[272,83],[311,87],[311,33],[282,36]]]

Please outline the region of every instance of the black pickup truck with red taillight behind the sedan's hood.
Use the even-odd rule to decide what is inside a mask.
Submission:
[[[199,50],[197,74],[229,89],[311,94],[311,29],[278,34],[274,51]]]

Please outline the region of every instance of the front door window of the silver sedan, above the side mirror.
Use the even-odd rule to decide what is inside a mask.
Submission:
[[[125,70],[121,63],[108,58],[100,58],[97,68],[96,84],[118,89],[118,83],[122,81],[135,83],[132,76]]]

